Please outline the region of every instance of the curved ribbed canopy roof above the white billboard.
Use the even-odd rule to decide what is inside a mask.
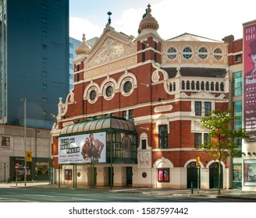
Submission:
[[[102,130],[136,132],[136,128],[132,122],[126,121],[124,118],[109,116],[77,121],[75,124],[62,128],[60,135],[73,135],[80,132],[98,132]]]

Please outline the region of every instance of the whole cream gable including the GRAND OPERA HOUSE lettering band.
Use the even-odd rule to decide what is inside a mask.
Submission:
[[[107,24],[84,62],[84,78],[103,76],[137,64],[137,44],[134,44],[133,38],[116,32]]]

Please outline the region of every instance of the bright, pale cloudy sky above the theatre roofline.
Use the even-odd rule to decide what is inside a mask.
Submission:
[[[256,19],[255,0],[69,0],[69,37],[101,37],[108,12],[117,32],[137,37],[148,4],[163,40],[183,33],[212,40],[233,35],[236,40],[243,37],[243,23]]]

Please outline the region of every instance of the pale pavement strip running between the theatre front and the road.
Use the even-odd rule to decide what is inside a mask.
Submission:
[[[55,188],[55,189],[84,189],[87,192],[129,192],[142,193],[148,195],[176,195],[176,196],[194,196],[194,197],[212,197],[212,198],[233,198],[233,199],[254,199],[256,201],[256,192],[245,192],[240,189],[224,189],[221,195],[217,195],[217,189],[199,190],[194,188],[193,193],[190,189],[172,189],[172,188],[137,188],[137,187],[94,187],[87,185],[50,185],[48,181],[44,182],[27,182],[26,186],[23,182],[16,183],[0,183],[0,188]]]

